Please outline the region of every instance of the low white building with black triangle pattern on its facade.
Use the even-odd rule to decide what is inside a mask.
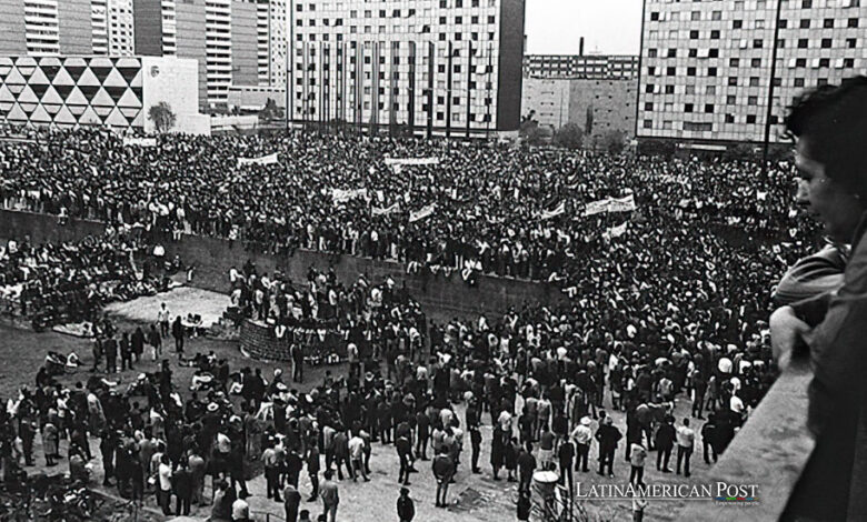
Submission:
[[[150,108],[166,102],[177,132],[207,133],[192,60],[155,57],[0,57],[0,120],[153,131]]]

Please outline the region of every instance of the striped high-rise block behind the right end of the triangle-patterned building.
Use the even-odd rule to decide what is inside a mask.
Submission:
[[[233,84],[285,84],[286,0],[133,0],[133,13],[138,54],[199,61],[203,106],[225,107]]]

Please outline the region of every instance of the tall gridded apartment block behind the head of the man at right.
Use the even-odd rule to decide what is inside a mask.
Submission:
[[[637,137],[783,141],[798,93],[867,73],[863,3],[646,0]]]

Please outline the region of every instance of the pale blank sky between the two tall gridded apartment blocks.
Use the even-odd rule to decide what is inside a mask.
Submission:
[[[528,54],[638,54],[641,0],[526,0]]]

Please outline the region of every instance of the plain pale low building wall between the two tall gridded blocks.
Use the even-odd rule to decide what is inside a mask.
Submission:
[[[589,138],[610,131],[631,138],[637,89],[636,80],[525,78],[521,107],[554,130],[575,123]]]

